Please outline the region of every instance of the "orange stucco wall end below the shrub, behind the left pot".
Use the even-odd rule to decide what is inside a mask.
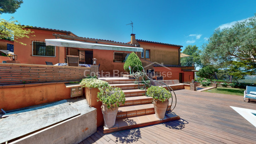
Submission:
[[[97,127],[102,126],[104,124],[104,118],[102,114],[102,102],[97,102],[97,94],[99,92],[98,88],[85,88],[85,97],[88,102],[88,104],[91,107],[94,107],[97,109]]]

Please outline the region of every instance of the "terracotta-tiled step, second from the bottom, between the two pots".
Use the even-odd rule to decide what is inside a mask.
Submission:
[[[170,107],[171,105],[168,106],[168,108]],[[155,113],[155,109],[154,109],[154,104],[152,103],[119,107],[117,112],[117,119],[138,117],[138,116],[154,114],[154,113]]]

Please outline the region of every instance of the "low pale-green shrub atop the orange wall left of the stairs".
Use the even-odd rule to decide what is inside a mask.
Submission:
[[[101,87],[109,87],[109,83],[100,79],[96,79],[93,77],[82,79],[80,82],[81,87],[88,88],[101,88]]]

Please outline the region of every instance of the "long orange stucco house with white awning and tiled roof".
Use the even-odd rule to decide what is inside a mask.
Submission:
[[[41,27],[29,27],[34,31],[34,37],[23,38],[12,42],[17,61],[24,64],[45,65],[45,62],[67,63],[67,55],[79,57],[80,64],[92,65],[92,59],[97,59],[100,76],[120,77],[125,73],[124,61],[131,52],[135,52],[147,72],[155,74],[153,79],[179,79],[189,83],[194,79],[194,67],[183,67],[180,64],[181,45],[171,45],[160,42],[136,40],[131,34],[127,43],[111,40],[100,40],[78,37],[70,31],[55,30]],[[6,45],[0,40],[0,45]],[[4,48],[0,49],[3,50]],[[1,57],[0,60],[7,59]]]

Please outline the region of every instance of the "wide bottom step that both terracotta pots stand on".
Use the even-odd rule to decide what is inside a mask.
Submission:
[[[155,114],[143,115],[138,117],[129,117],[124,119],[116,119],[115,125],[112,128],[104,127],[104,134],[111,132],[122,131],[126,129],[134,129],[138,127],[145,127],[152,124],[160,124],[163,122],[169,122],[173,120],[179,120],[180,117],[175,113],[171,112],[165,115],[164,119],[158,119]]]

